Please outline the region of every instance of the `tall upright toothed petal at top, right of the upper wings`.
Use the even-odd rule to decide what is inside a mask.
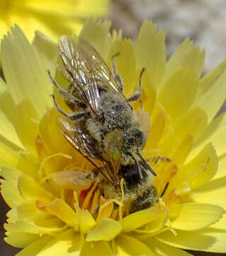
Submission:
[[[162,78],[164,78],[166,66],[165,37],[166,34],[162,30],[157,31],[156,24],[145,20],[137,39],[137,68],[149,70],[155,87],[159,87]]]

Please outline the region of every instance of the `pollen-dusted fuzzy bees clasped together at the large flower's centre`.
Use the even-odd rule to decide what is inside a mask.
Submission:
[[[137,92],[127,99],[115,68],[114,58],[118,54],[111,58],[111,72],[84,38],[61,36],[58,47],[62,60],[60,72],[69,81],[67,90],[57,84],[50,72],[49,75],[72,110],[71,113],[62,110],[52,95],[61,114],[60,130],[67,142],[94,166],[88,174],[67,172],[70,182],[81,191],[98,181],[104,198],[120,199],[123,178],[128,213],[153,206],[157,201],[157,191],[152,186],[156,174],[142,157],[146,138],[130,105],[141,100],[141,77],[145,69],[140,74]]]

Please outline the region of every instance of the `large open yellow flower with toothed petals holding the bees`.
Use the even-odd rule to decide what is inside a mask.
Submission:
[[[70,171],[93,167],[57,124],[47,75],[55,75],[57,46],[40,33],[30,45],[15,26],[1,43],[1,195],[12,208],[6,242],[24,248],[18,256],[226,252],[226,115],[215,118],[225,100],[226,61],[202,77],[204,51],[189,39],[166,61],[165,33],[150,21],[142,24],[136,46],[109,28],[108,21],[91,19],[81,36],[108,64],[120,53],[115,64],[127,97],[147,68],[142,103],[151,128],[142,154],[157,172],[159,201],[128,214],[123,195],[108,201],[98,183],[80,194],[59,186]],[[55,78],[65,85],[58,71]]]

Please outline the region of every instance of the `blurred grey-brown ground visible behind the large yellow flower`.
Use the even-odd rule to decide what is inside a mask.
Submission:
[[[87,0],[87,3],[89,0]],[[0,10],[1,11],[1,10]],[[226,1],[225,0],[114,0],[107,17],[112,28],[123,28],[123,36],[136,41],[145,18],[152,19],[166,34],[167,55],[189,37],[200,48],[205,48],[205,69],[208,72],[226,57]],[[221,111],[226,109],[226,105]],[[6,245],[3,223],[9,209],[0,202],[0,255],[12,256],[18,249]],[[191,252],[194,255],[215,255]],[[226,254],[218,254],[226,255]]]

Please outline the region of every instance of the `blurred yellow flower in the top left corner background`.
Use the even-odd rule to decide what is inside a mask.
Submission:
[[[105,16],[108,2],[108,0],[2,0],[0,33],[4,35],[16,23],[26,32],[29,40],[33,39],[35,29],[57,40],[62,33],[78,33],[87,17]]]

